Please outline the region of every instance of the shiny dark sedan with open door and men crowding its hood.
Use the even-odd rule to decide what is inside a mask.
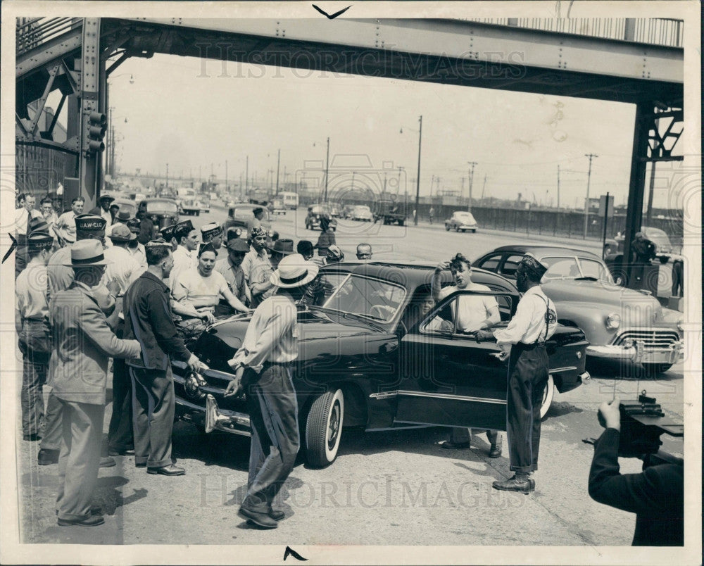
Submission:
[[[459,291],[431,307],[432,273],[431,265],[383,262],[322,268],[323,292],[298,315],[298,359],[292,368],[301,448],[310,465],[333,462],[342,427],[505,430],[508,362],[496,342],[478,344],[451,322],[451,303],[477,292]],[[451,284],[449,272],[442,277]],[[481,270],[473,277],[496,296],[501,325],[507,325],[518,299],[513,283]],[[210,366],[204,375],[174,364],[177,417],[205,432],[249,436],[245,401],[223,397],[233,377],[227,360],[241,346],[248,322],[246,315],[231,317],[201,335],[192,351]],[[587,345],[581,330],[562,326],[548,341],[551,379],[544,410],[553,383],[564,392],[589,378]]]

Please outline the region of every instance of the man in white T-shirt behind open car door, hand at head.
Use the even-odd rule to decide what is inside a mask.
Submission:
[[[440,288],[440,274],[449,269],[455,279],[450,287]],[[463,254],[457,253],[450,261],[443,261],[435,268],[432,282],[433,298],[441,301],[455,291],[491,292],[489,287],[472,282],[472,263]],[[472,333],[480,329],[491,328],[501,322],[498,313],[498,303],[493,295],[463,295],[451,303],[452,315],[456,332]],[[487,430],[489,439],[489,457],[498,458],[501,455],[501,434],[495,430]],[[440,443],[442,448],[470,448],[472,430],[452,427],[450,439]]]

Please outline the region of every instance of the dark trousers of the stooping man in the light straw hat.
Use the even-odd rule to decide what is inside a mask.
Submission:
[[[288,365],[246,370],[243,383],[252,429],[249,480],[242,505],[268,507],[294,469],[300,444],[298,402]]]

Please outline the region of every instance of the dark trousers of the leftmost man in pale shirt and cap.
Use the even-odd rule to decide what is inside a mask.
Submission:
[[[42,388],[46,384],[46,372],[51,358],[51,330],[42,320],[22,321],[18,339],[22,352],[22,405],[23,434],[39,434],[44,422],[44,398]]]

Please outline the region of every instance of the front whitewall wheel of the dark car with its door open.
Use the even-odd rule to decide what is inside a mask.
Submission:
[[[310,407],[306,418],[306,460],[315,467],[325,467],[337,458],[340,446],[345,400],[341,389],[327,391]]]

